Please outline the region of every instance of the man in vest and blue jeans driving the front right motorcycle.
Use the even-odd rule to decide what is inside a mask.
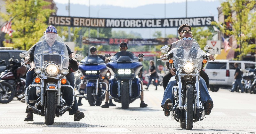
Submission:
[[[184,41],[190,42],[190,43],[187,43],[187,44],[192,44],[191,42],[193,41],[193,35],[190,31],[183,32],[181,37],[182,37],[181,39],[183,39]],[[190,51],[190,49],[196,49],[195,47],[192,47],[192,45],[187,45],[187,44],[183,44],[183,46],[181,46],[181,47],[184,47],[185,51],[187,51],[187,52],[184,52],[184,53],[189,54],[188,51]],[[177,51],[177,48],[172,49],[171,51],[169,51],[169,53],[173,53],[173,55],[176,55],[176,51]],[[198,52],[204,52],[200,48],[197,51]],[[209,58],[209,59],[214,60],[214,58],[212,59],[212,57]],[[167,60],[165,60],[164,62],[166,62],[166,61]],[[172,106],[168,105],[168,103],[173,103],[172,102],[173,101],[172,87],[176,85],[176,80],[175,80],[176,72],[174,72],[174,71],[176,71],[175,68],[171,69],[171,74],[173,76],[170,79],[170,81],[169,81],[169,83],[168,83],[168,85],[167,85],[167,87],[164,91],[164,97],[163,97],[163,100],[162,100],[162,103],[161,103],[161,106],[165,110],[164,111],[165,116],[170,115],[170,111],[168,111],[168,110],[172,108]],[[205,115],[209,115],[212,111],[212,108],[213,108],[213,101],[212,101],[212,98],[209,95],[206,83],[205,83],[204,79],[201,76],[200,76],[200,79],[199,79],[199,91],[200,91],[200,98],[201,98],[201,101],[202,101],[204,109],[205,109],[204,113],[205,113]],[[172,105],[174,105],[174,104],[172,104]]]

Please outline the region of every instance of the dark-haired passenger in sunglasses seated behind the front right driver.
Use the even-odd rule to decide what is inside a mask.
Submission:
[[[187,31],[187,30],[191,32],[191,26],[189,26],[189,25],[187,25],[187,24],[181,25],[180,28],[178,29],[178,34],[180,35],[180,37],[181,37],[181,35],[183,34],[183,32],[185,32],[185,31]],[[180,41],[180,40],[178,40],[178,41],[172,43],[172,44],[170,45],[169,51],[171,51],[173,48],[175,48],[176,45],[177,45],[177,43],[178,43],[179,41]],[[198,47],[200,47],[199,44],[197,44],[197,45],[198,45]],[[161,56],[160,58],[163,58],[163,56]],[[210,55],[210,58],[214,59],[213,55]],[[165,88],[166,88],[167,83],[169,82],[169,80],[170,80],[171,77],[173,76],[173,75],[171,74],[171,72],[170,72],[171,70],[170,70],[170,68],[169,68],[169,62],[166,63],[166,66],[167,66],[167,68],[169,69],[169,72],[167,72],[167,73],[164,75],[164,77],[163,77],[163,87],[164,87],[164,90],[165,90]],[[200,71],[200,76],[201,76],[201,77],[204,79],[204,81],[206,82],[207,88],[209,88],[209,77],[208,77],[208,75],[204,72],[203,69]]]

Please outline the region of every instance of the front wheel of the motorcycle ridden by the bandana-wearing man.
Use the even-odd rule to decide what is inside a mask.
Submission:
[[[45,124],[52,125],[56,113],[56,91],[47,91],[47,100],[44,111]]]

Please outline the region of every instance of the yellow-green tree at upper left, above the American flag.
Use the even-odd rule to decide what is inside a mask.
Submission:
[[[47,28],[47,18],[54,12],[43,9],[49,4],[44,0],[6,0],[5,8],[8,13],[0,13],[0,16],[6,21],[13,18],[13,37],[12,43],[4,43],[4,46],[28,50],[34,45]],[[5,37],[10,39],[8,35]]]

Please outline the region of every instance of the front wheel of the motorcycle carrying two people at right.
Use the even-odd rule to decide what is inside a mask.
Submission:
[[[186,110],[186,122],[180,122],[181,128],[186,128],[186,130],[192,130],[193,128],[193,86],[192,84],[188,84],[186,86],[186,104],[187,104],[187,110]]]

